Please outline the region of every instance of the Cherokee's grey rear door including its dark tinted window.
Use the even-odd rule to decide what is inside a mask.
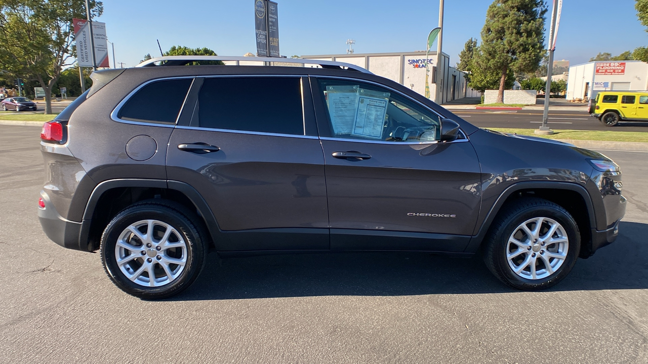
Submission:
[[[167,173],[207,201],[224,232],[219,250],[329,249],[324,159],[303,80],[194,83],[192,117],[171,135]]]

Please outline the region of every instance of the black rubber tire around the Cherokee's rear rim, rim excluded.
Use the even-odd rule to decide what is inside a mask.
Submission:
[[[199,256],[203,255],[202,244],[198,244],[198,233],[196,229],[183,218],[178,217],[178,213],[169,213],[173,210],[161,209],[156,206],[137,206],[132,209],[126,209],[108,224],[101,238],[100,255],[106,273],[111,280],[121,290],[145,299],[159,299],[176,294],[189,286],[196,279],[200,272]],[[181,215],[180,215],[181,216]],[[158,287],[141,286],[128,279],[117,265],[115,256],[115,245],[121,233],[135,222],[141,220],[158,220],[171,225],[187,243],[187,264],[178,278],[168,284]]]

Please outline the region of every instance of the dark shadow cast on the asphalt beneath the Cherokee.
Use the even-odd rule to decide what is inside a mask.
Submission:
[[[648,288],[648,224],[622,222],[616,242],[579,259],[551,291]],[[429,253],[291,254],[225,258],[214,253],[200,278],[170,301],[324,295],[430,295],[515,292],[480,256]]]

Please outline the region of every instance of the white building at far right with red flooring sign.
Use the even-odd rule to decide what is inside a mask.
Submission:
[[[588,62],[569,68],[567,100],[587,100],[599,91],[645,91],[648,63],[641,61]]]

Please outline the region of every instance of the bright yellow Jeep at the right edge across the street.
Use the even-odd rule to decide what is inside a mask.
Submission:
[[[599,92],[590,100],[589,113],[607,126],[616,126],[622,120],[648,121],[648,93]]]

